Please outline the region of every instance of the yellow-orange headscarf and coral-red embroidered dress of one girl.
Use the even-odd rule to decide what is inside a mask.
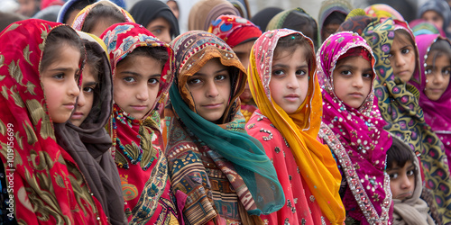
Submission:
[[[268,224],[342,224],[345,207],[338,194],[341,175],[330,149],[317,140],[322,100],[314,58],[308,65],[306,100],[299,109],[287,114],[272,100],[273,51],[278,40],[289,35],[302,33],[288,29],[263,33],[253,45],[249,65],[249,87],[259,110],[246,130],[262,142],[286,198],[281,211],[262,219]],[[309,39],[308,44],[313,49]]]

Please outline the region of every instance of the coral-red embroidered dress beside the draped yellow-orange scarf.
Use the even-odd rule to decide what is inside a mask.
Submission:
[[[273,127],[267,117],[262,116],[260,110],[253,113],[247,123],[246,131],[262,143],[266,155],[270,157],[276,168],[277,177],[283,187],[283,193],[285,193],[285,205],[280,211],[260,216],[264,223],[324,224],[322,223],[322,219],[324,219],[329,224],[327,218],[322,215],[318,202],[315,201],[308,185],[299,174],[299,166],[281,132]],[[271,136],[270,133],[272,139],[267,138]]]

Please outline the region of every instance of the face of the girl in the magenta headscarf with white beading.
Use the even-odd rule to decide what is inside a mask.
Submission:
[[[332,76],[336,96],[354,109],[370,94],[374,75],[370,61],[365,58],[354,56],[338,60]]]

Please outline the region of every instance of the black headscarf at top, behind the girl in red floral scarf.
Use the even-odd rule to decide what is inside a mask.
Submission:
[[[174,39],[179,36],[179,22],[170,7],[158,0],[141,0],[133,5],[130,14],[136,23],[146,27],[156,18],[162,17],[170,23],[170,37]]]

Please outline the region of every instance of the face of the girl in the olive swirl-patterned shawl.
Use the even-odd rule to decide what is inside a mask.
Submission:
[[[402,34],[395,35],[391,45],[389,59],[394,76],[409,82],[417,65],[415,47]]]

